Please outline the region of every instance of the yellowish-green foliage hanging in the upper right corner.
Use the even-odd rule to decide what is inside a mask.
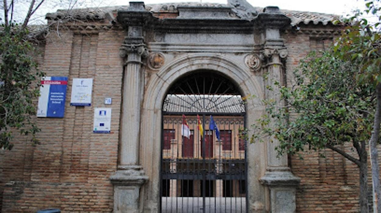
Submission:
[[[343,34],[335,43],[335,56],[359,64],[359,72],[355,74],[360,83],[381,83],[381,7],[378,1],[365,4],[365,11],[357,11],[349,19]],[[376,18],[370,22],[363,15]]]

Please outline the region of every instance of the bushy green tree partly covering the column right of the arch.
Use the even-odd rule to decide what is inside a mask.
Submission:
[[[253,141],[278,140],[280,154],[331,149],[359,167],[360,210],[368,212],[367,149],[375,115],[375,85],[359,83],[359,66],[333,51],[310,54],[295,70],[295,85],[274,82],[284,106],[266,100],[266,113],[253,125]],[[269,79],[271,80],[271,79]],[[352,152],[344,147],[351,144]]]

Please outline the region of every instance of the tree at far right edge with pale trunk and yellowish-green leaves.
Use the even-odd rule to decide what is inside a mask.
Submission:
[[[357,12],[346,20],[349,24],[335,43],[335,56],[358,66],[354,74],[358,83],[374,87],[376,105],[372,108],[375,109],[375,114],[369,150],[373,183],[373,212],[381,213],[377,150],[381,122],[381,7],[379,1],[368,1],[365,6],[367,8],[365,11]],[[362,18],[364,15],[371,15],[369,21]]]

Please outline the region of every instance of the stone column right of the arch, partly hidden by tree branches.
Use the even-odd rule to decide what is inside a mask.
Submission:
[[[279,16],[279,20],[275,21]],[[265,20],[265,38],[263,58],[267,62],[268,78],[265,82],[266,88],[271,86],[273,90],[266,90],[265,98],[273,99],[279,106],[284,106],[280,100],[280,91],[275,84],[284,83],[284,69],[282,60],[287,57],[287,49],[280,38],[280,28],[282,27],[282,14],[277,7],[267,7],[262,18]],[[283,19],[286,24],[287,19]],[[275,123],[273,124],[275,126]],[[275,147],[279,141],[272,138],[272,143],[267,144],[267,169],[260,178],[260,182],[269,187],[270,208],[272,213],[293,213],[296,211],[295,194],[300,178],[291,173],[287,165],[287,155],[277,156]]]

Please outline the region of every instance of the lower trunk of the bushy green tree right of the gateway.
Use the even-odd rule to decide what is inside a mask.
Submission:
[[[360,156],[360,213],[368,213],[368,163],[367,153]]]

